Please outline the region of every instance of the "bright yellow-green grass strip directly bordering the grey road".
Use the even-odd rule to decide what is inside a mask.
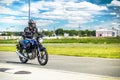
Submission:
[[[45,44],[48,53],[53,55],[119,58],[120,44]],[[15,46],[0,46],[0,51],[13,51]]]

